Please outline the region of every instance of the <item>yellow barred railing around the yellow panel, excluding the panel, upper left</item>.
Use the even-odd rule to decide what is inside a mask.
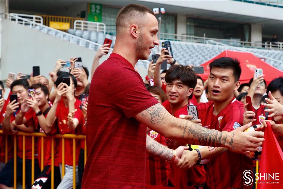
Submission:
[[[43,18],[43,25],[45,26],[50,26],[51,22],[58,22],[58,23],[68,23],[69,28],[73,29],[74,28],[74,21],[75,20],[84,20],[84,18],[80,17],[67,17],[67,16],[53,16],[53,15],[37,15]],[[55,28],[57,29],[57,28]],[[59,29],[61,31],[67,32],[67,29]]]

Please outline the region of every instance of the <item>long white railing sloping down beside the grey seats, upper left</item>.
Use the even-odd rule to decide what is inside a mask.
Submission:
[[[26,18],[22,18],[22,17],[20,17],[17,14],[9,14],[8,20],[15,21],[16,23],[22,24],[24,26],[29,26],[30,28],[40,27],[39,29],[42,32],[44,32],[44,33],[48,33],[51,36],[59,36],[59,38],[61,38],[61,39],[64,38],[64,40],[68,40],[71,43],[73,41],[78,41],[80,46],[82,46],[83,43],[85,43],[85,44],[88,43],[89,44],[89,46],[88,46],[89,49],[92,49],[92,47],[94,47],[94,49],[97,50],[101,46],[101,44],[99,44],[99,43],[95,43],[93,41],[90,41],[90,40],[87,40],[87,39],[83,39],[81,37],[78,37],[78,36],[75,36],[75,35],[72,35],[72,34],[69,34],[69,33],[66,33],[66,32],[63,32],[63,31],[60,31],[60,30],[56,30],[54,28],[42,25],[41,23],[33,22],[33,21],[28,20]],[[110,49],[110,50],[112,51],[113,49]]]

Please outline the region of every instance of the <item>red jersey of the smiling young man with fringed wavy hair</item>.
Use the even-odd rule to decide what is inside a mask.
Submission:
[[[172,114],[170,102],[164,101],[162,105],[165,109]],[[187,105],[177,110],[174,117],[179,118],[179,115],[188,115]],[[166,138],[166,144],[171,149],[176,149],[175,141]],[[177,188],[195,188],[195,185],[203,184],[205,182],[204,166],[193,166],[190,169],[180,169],[170,164],[169,179],[172,184]]]

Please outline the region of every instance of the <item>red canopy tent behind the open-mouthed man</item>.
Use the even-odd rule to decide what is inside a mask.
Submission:
[[[283,71],[278,70],[277,68],[274,68],[273,66],[267,64],[266,62],[262,61],[260,58],[257,58],[252,53],[237,52],[230,50],[225,50],[216,57],[200,65],[204,67],[204,74],[197,74],[197,75],[201,76],[203,80],[207,80],[210,73],[209,64],[213,60],[221,57],[237,58],[240,61],[242,68],[242,74],[240,77],[241,83],[248,83],[250,79],[253,77],[256,68],[263,69],[263,78],[266,80],[267,84],[269,84],[272,81],[272,79],[283,76]]]

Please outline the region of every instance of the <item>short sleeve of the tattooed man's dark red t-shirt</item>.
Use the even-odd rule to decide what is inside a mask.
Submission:
[[[127,118],[155,105],[158,101],[146,90],[142,77],[131,68],[120,68],[111,77],[108,96],[112,106]]]

